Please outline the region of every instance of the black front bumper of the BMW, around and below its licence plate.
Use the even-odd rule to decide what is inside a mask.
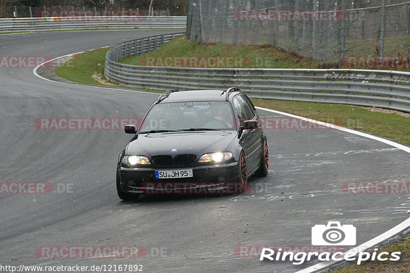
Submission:
[[[121,190],[134,194],[223,194],[239,193],[238,162],[201,165],[192,169],[193,177],[157,179],[156,167],[127,168],[118,166]],[[172,170],[166,169],[166,170]]]

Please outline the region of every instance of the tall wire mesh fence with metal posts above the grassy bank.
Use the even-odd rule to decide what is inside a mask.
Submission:
[[[271,44],[340,64],[349,56],[408,55],[397,39],[410,34],[410,2],[403,0],[191,0],[190,40]]]

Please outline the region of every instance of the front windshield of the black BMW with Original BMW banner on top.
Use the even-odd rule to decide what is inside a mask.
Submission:
[[[229,102],[199,101],[156,104],[142,122],[139,133],[211,130],[236,130]]]

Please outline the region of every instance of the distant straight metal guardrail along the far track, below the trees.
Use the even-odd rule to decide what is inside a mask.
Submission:
[[[81,29],[186,28],[186,16],[81,16],[0,19],[0,33]]]

